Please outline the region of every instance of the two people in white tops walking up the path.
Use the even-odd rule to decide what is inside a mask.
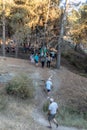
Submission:
[[[52,84],[52,79],[50,77],[50,78],[48,78],[48,80],[45,83],[45,89],[46,89],[48,96],[49,96],[52,88],[53,88],[53,84]],[[55,119],[56,113],[58,112],[58,104],[54,101],[53,98],[49,98],[49,99],[50,99],[50,104],[48,106],[48,121],[49,121],[48,128],[52,128],[52,125],[51,125],[52,121],[54,122],[56,127],[58,127],[58,122]]]

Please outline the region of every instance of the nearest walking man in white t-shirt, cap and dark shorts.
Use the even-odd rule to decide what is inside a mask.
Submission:
[[[54,101],[53,98],[50,98],[50,105],[48,107],[48,128],[52,128],[51,122],[53,121],[56,127],[58,127],[58,122],[55,119],[56,113],[58,111],[58,104]]]

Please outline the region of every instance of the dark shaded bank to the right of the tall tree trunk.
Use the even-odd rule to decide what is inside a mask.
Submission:
[[[73,70],[78,74],[83,74],[87,77],[87,55],[69,50],[62,53],[62,65],[65,65],[68,69]],[[68,65],[67,65],[68,63]],[[71,67],[69,67],[71,66]]]

